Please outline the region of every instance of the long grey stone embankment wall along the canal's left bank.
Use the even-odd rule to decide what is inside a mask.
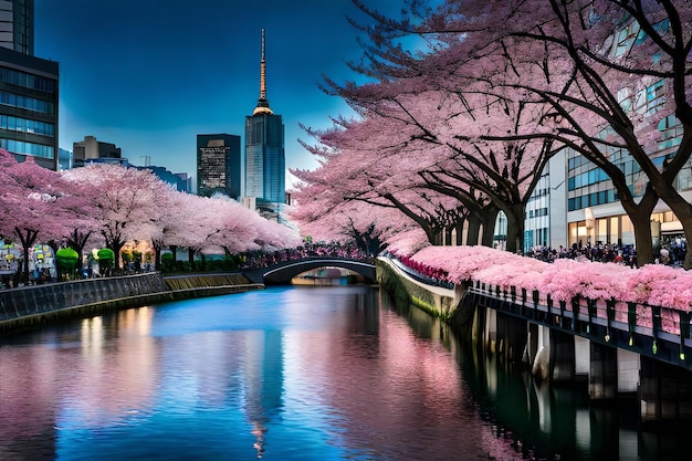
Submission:
[[[148,272],[2,290],[0,333],[70,317],[263,287],[242,274],[164,276]]]

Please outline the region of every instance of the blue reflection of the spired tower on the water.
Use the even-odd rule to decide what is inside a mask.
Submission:
[[[245,350],[254,352],[248,358],[245,371],[245,415],[255,438],[258,458],[264,453],[266,423],[282,408],[283,345],[281,332],[249,332]]]

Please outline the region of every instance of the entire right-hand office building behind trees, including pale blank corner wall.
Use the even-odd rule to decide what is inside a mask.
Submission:
[[[617,56],[636,45],[638,34],[639,30],[635,23],[623,24],[615,34],[617,40],[614,41],[614,54]],[[651,80],[636,92],[620,92],[619,103],[626,111],[647,117],[658,114],[664,107],[665,97],[672,97],[663,90],[662,81]],[[602,139],[608,138],[609,129],[604,128],[599,136]],[[649,136],[651,140],[643,147],[651,163],[662,167],[682,142],[683,128],[675,115],[670,114],[661,117],[654,129],[658,130],[657,136]],[[638,163],[626,149],[612,146],[606,149],[608,160],[623,172],[635,200],[643,196],[648,178]],[[539,211],[530,202],[525,221],[528,238],[525,249],[532,244],[543,245],[545,241],[549,242],[552,248],[558,248],[560,244],[635,245],[631,220],[605,171],[572,149],[564,149],[555,158],[563,164],[562,167],[552,161],[549,171],[544,171],[548,187],[543,186],[542,178],[532,197],[533,203],[539,203],[539,197],[547,192],[547,200],[551,203],[548,237],[536,238],[541,234],[544,223],[537,222],[536,216]],[[692,202],[692,160],[688,160],[678,171],[673,186],[685,200]],[[662,200],[656,206],[650,222],[654,250],[662,244],[674,247],[684,243],[680,220]]]

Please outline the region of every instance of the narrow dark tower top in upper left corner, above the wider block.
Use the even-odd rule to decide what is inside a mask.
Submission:
[[[0,0],[0,46],[33,56],[33,0]]]

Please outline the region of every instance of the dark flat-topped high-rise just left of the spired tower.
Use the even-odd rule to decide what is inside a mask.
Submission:
[[[197,195],[240,198],[240,136],[197,135]]]

